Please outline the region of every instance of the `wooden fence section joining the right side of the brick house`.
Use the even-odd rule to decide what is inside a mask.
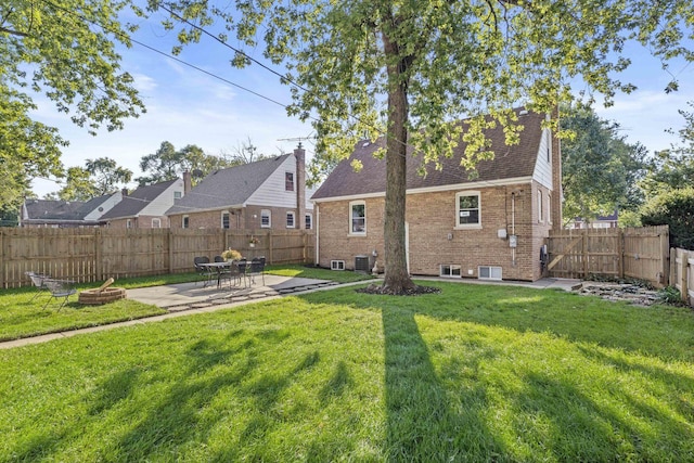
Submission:
[[[547,242],[550,276],[629,276],[656,287],[669,282],[668,226],[557,230]]]

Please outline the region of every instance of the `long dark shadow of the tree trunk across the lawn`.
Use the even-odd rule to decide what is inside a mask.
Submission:
[[[451,391],[442,385],[411,310],[384,309],[387,458],[389,461],[493,460],[503,446],[480,420],[481,388]],[[476,368],[479,359],[465,359]],[[457,394],[465,408],[452,407]],[[462,397],[461,397],[462,396]],[[475,439],[467,437],[474,435]]]

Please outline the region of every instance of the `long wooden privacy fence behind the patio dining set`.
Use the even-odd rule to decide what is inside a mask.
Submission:
[[[30,284],[27,271],[76,282],[190,272],[195,256],[211,260],[229,247],[269,265],[307,263],[314,236],[312,230],[0,228],[0,287]]]

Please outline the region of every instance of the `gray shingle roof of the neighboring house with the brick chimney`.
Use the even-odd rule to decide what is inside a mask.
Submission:
[[[191,213],[241,205],[292,154],[215,170],[200,181],[185,196],[177,200],[166,215]]]

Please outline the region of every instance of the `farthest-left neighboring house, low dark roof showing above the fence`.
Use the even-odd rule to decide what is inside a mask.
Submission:
[[[90,201],[25,200],[20,227],[83,228],[99,227],[100,217],[121,200],[121,192]]]

